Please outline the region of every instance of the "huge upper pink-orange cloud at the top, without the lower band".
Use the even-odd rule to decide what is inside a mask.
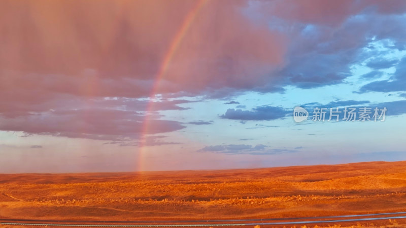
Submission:
[[[121,78],[155,79],[165,53],[196,2],[3,4],[0,67],[18,72],[20,77],[14,81],[19,85],[34,81],[44,87],[41,89],[58,92],[140,97],[149,95],[150,90],[135,82],[129,84],[130,90]],[[165,86],[161,92],[241,87],[255,82],[247,79],[248,72],[255,72],[250,76],[260,80],[263,73],[282,64],[283,36],[250,23],[241,13],[243,6],[238,1],[210,1],[201,8],[165,76],[177,87]],[[87,69],[93,69],[93,74],[84,75]],[[89,87],[99,90],[86,94]]]

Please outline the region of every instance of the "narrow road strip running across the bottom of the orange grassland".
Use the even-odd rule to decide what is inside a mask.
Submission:
[[[402,214],[402,215],[399,215]],[[385,215],[385,216],[383,216]],[[388,216],[391,215],[391,216]],[[398,215],[398,216],[394,216]],[[368,217],[369,216],[369,217]],[[380,216],[380,217],[370,217]],[[358,218],[351,218],[358,217]],[[368,218],[361,218],[368,217]],[[332,219],[334,218],[334,219]],[[311,224],[311,223],[338,223],[359,222],[383,219],[406,218],[406,212],[391,212],[377,214],[356,214],[322,217],[296,217],[296,218],[262,218],[262,219],[229,219],[229,220],[183,220],[183,221],[69,221],[69,220],[36,220],[36,219],[0,219],[4,225],[47,225],[47,226],[88,226],[88,227],[191,227],[191,226],[246,226],[246,225],[285,225],[285,224]],[[327,219],[327,220],[319,220]],[[279,220],[279,221],[278,221]],[[285,220],[285,221],[280,221]],[[293,221],[292,221],[293,220]],[[296,221],[295,221],[296,220]],[[297,221],[299,220],[299,221]],[[220,223],[218,223],[220,222]],[[235,222],[235,223],[233,223]],[[79,223],[79,224],[78,224]],[[80,224],[94,223],[94,224]],[[98,224],[95,224],[98,223]],[[100,224],[104,223],[104,224]],[[116,223],[116,224],[106,224]],[[149,223],[149,224],[117,224],[117,223]],[[154,224],[150,224],[154,223]],[[164,224],[172,223],[172,224]],[[180,224],[188,223],[188,224]]]

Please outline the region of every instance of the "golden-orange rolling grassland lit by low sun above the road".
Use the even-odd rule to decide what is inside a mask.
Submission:
[[[201,220],[397,211],[406,211],[406,161],[217,171],[0,174],[0,218]]]

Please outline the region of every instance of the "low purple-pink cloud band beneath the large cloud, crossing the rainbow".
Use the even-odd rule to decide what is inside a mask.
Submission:
[[[0,118],[0,129],[21,131],[26,134],[90,138],[100,140],[138,140],[146,134],[171,132],[183,129],[180,123],[167,120],[150,120],[147,132],[143,131],[144,116],[133,111],[115,109],[80,109],[43,112],[36,115]]]

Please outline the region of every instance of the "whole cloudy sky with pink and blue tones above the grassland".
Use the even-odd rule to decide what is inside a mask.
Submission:
[[[406,160],[405,1],[5,0],[0,34],[0,173]]]

